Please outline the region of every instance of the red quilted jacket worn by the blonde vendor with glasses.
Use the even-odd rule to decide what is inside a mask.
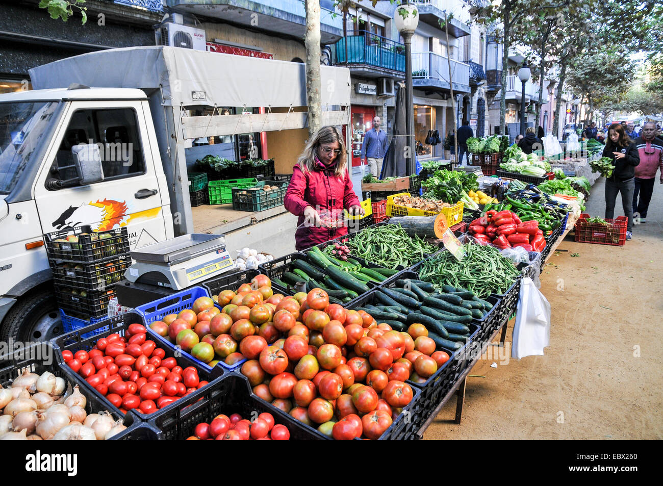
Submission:
[[[292,168],[292,179],[283,201],[286,210],[299,217],[298,229],[294,233],[297,251],[324,243],[335,237],[347,234],[347,227],[305,227],[304,209],[312,206],[320,217],[330,213],[333,219],[341,217],[343,209],[359,206],[359,198],[352,188],[349,173],[337,177],[333,174],[334,166],[325,167],[318,162],[318,170],[304,174],[298,165]]]

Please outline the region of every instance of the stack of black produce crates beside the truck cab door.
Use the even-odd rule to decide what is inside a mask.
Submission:
[[[127,228],[80,226],[48,233],[44,241],[65,332],[105,318],[114,287],[131,266]]]

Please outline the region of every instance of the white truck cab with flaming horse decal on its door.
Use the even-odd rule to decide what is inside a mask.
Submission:
[[[90,182],[80,149],[98,149]],[[62,334],[46,233],[127,226],[131,249],[174,236],[147,95],[131,88],[0,95],[0,341]]]

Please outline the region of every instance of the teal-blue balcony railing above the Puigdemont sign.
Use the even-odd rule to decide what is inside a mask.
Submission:
[[[377,68],[405,72],[405,46],[400,42],[366,30],[355,30],[336,42],[335,46],[337,64],[369,64]]]

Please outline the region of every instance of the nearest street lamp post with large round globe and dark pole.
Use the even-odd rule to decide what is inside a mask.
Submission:
[[[405,130],[407,132],[406,145],[406,174],[416,172],[416,163],[414,162],[414,99],[412,94],[412,35],[419,24],[419,12],[414,5],[409,3],[396,7],[394,13],[394,22],[396,29],[403,36],[405,41],[405,104],[407,116],[405,119]]]

